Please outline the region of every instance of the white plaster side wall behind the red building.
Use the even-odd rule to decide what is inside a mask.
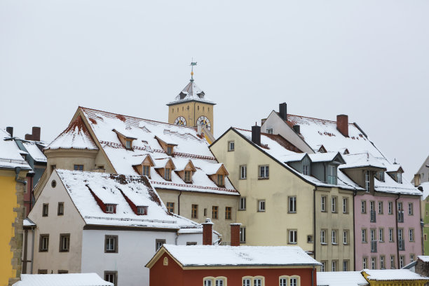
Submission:
[[[104,253],[106,235],[118,236],[118,253]],[[104,271],[118,271],[119,286],[149,286],[149,269],[144,266],[156,252],[156,240],[175,245],[176,237],[175,231],[84,230],[82,273],[95,272],[104,278]],[[201,244],[203,233],[181,234],[177,244],[187,241]]]

